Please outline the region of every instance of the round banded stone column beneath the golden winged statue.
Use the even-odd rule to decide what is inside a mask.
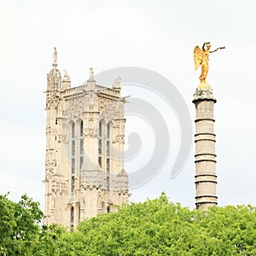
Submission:
[[[207,210],[217,205],[217,176],[213,107],[216,100],[207,83],[200,84],[195,103],[195,205]]]

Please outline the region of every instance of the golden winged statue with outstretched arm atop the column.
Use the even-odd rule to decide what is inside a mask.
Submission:
[[[195,46],[194,49],[194,61],[195,61],[195,70],[201,65],[201,76],[199,77],[201,84],[207,83],[207,73],[209,69],[209,54],[217,51],[218,49],[225,49],[225,47],[218,47],[217,49],[210,50],[210,42],[205,42],[200,49],[199,46]]]

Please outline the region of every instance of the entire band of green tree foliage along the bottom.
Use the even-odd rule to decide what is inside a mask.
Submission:
[[[256,208],[251,206],[202,212],[174,204],[162,194],[90,218],[67,232],[57,225],[39,228],[42,215],[28,207],[32,201],[27,198],[23,204],[6,196],[0,199],[0,255],[256,255]],[[30,213],[18,214],[17,205],[20,212],[25,207]]]

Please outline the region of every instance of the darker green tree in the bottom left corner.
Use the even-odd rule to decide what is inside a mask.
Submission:
[[[0,255],[26,255],[40,230],[38,202],[22,195],[18,203],[0,195]]]

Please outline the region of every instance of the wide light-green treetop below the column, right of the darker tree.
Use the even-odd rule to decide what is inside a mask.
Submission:
[[[62,236],[60,255],[256,255],[255,207],[189,210],[159,199],[99,215]]]

